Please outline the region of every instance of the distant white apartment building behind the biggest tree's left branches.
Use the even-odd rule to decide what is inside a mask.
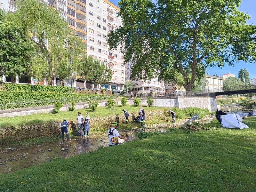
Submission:
[[[126,79],[131,80],[132,62],[126,63]],[[156,78],[146,81],[132,81],[132,91],[134,93],[146,93],[146,92],[165,92],[164,82],[157,81]],[[148,91],[149,90],[149,91]]]

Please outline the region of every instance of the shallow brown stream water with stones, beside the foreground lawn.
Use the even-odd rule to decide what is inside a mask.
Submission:
[[[128,140],[136,139],[134,132],[128,132]],[[120,143],[124,142],[122,139],[118,140]],[[6,146],[5,149],[0,149],[0,162],[2,162],[0,173],[14,172],[32,165],[51,161],[53,155],[55,157],[68,158],[96,150],[100,146],[108,146],[107,134],[90,135],[71,141],[67,141],[65,138],[64,142],[60,138],[54,142],[37,143],[28,147],[24,147],[24,145]],[[65,148],[65,151],[61,151],[62,148]],[[52,149],[52,151],[48,151],[48,149]],[[5,161],[5,158],[9,159],[9,161]],[[11,160],[13,158],[15,160]]]

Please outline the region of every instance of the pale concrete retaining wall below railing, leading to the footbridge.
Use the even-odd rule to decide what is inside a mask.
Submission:
[[[172,98],[172,99],[152,99],[152,106],[156,107],[177,107],[180,109],[188,107],[198,107],[202,109],[209,109],[211,112],[217,110],[217,103],[215,98],[196,97],[196,98]],[[133,105],[134,99],[128,99],[127,103]],[[146,99],[140,100],[141,105],[148,105]]]

